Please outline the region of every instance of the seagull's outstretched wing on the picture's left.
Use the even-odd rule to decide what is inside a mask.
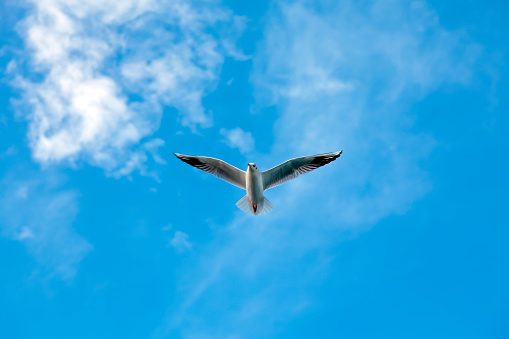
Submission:
[[[246,172],[224,162],[223,160],[178,153],[173,154],[191,166],[210,173],[232,185],[246,189]]]

